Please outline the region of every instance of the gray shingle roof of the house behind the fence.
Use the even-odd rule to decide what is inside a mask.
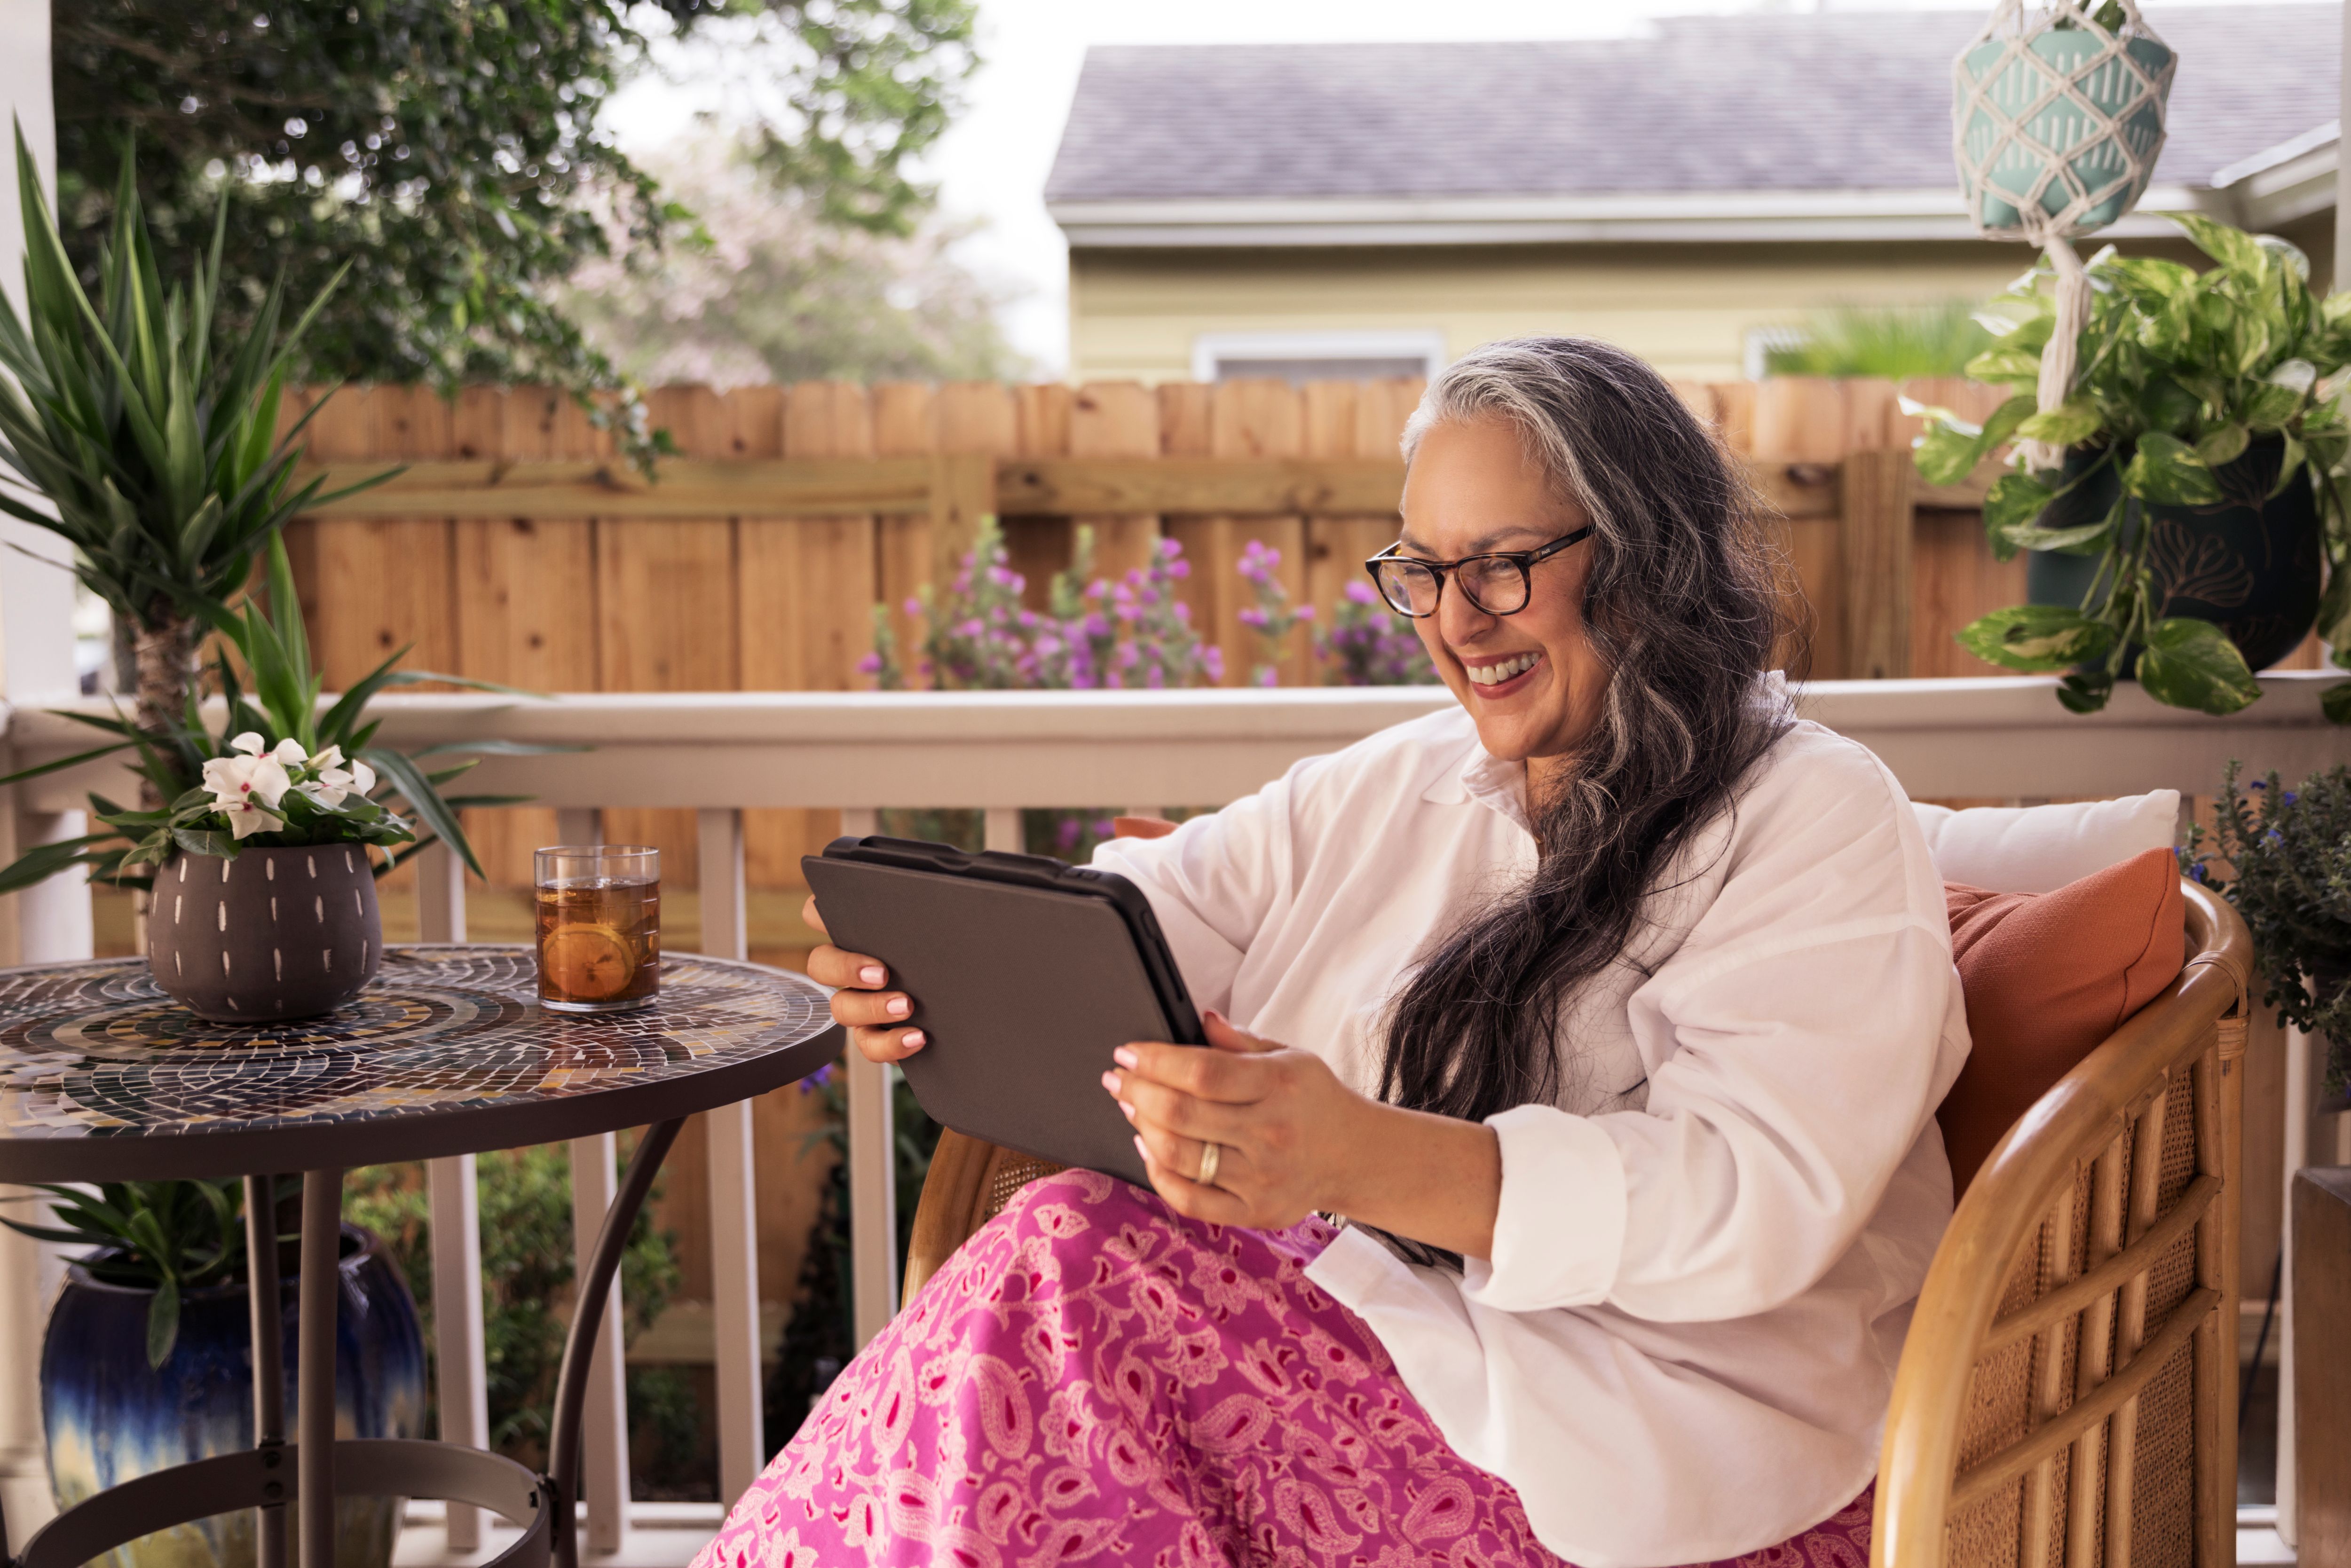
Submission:
[[[2158,181],[2337,115],[2339,5],[2146,12],[2179,52]],[[1093,47],[1049,202],[1916,190],[1982,12],[1681,16],[1646,38]]]

